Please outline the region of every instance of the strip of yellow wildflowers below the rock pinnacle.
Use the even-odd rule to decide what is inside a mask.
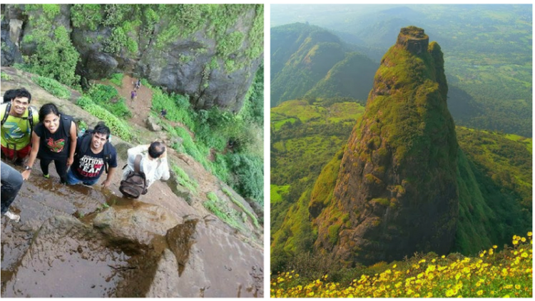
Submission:
[[[271,297],[532,297],[532,233],[514,235],[513,247],[494,245],[477,257],[426,255],[371,267],[350,282],[329,275],[305,280],[295,272],[272,275]],[[383,262],[384,263],[384,262]],[[367,272],[366,272],[367,271]]]

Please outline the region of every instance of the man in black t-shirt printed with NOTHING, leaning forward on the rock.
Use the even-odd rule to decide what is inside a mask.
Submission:
[[[78,137],[74,162],[67,172],[68,185],[83,183],[91,186],[101,177],[102,171],[106,170],[108,176],[102,185],[108,188],[117,168],[117,151],[109,142],[110,133],[110,128],[98,123],[93,131],[87,130],[83,136]]]

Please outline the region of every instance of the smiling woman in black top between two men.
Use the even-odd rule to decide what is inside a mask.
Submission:
[[[31,167],[39,158],[45,178],[50,178],[49,165],[54,161],[61,183],[66,183],[67,168],[73,164],[76,151],[76,123],[73,118],[60,113],[54,103],[46,103],[39,110],[39,123],[34,128],[32,141],[34,146],[22,178],[29,178]]]

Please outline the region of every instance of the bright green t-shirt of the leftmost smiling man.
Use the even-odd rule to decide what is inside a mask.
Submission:
[[[3,103],[0,106],[0,120],[2,120],[4,114],[6,114],[6,107],[7,103]],[[4,146],[4,148],[14,148],[15,146],[17,150],[20,150],[29,145],[31,141],[30,123],[28,121],[29,110],[32,110],[31,113],[34,118],[34,126],[39,123],[39,112],[31,106],[28,107],[28,110],[24,112],[22,117],[7,116],[6,122],[1,126],[1,146]]]

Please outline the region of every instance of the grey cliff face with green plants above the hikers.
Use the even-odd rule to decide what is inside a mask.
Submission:
[[[239,111],[263,61],[262,5],[106,4],[93,10],[62,4],[49,16],[42,9],[12,4],[5,11],[2,22],[24,19],[24,33],[16,49],[2,36],[7,47],[2,47],[1,66],[20,62],[19,51],[36,53],[33,37],[43,30],[36,20],[44,16],[52,24],[46,32],[54,34],[63,26],[70,34],[80,53],[76,74],[87,79],[113,73],[146,78],[168,92],[190,96],[196,108]]]

